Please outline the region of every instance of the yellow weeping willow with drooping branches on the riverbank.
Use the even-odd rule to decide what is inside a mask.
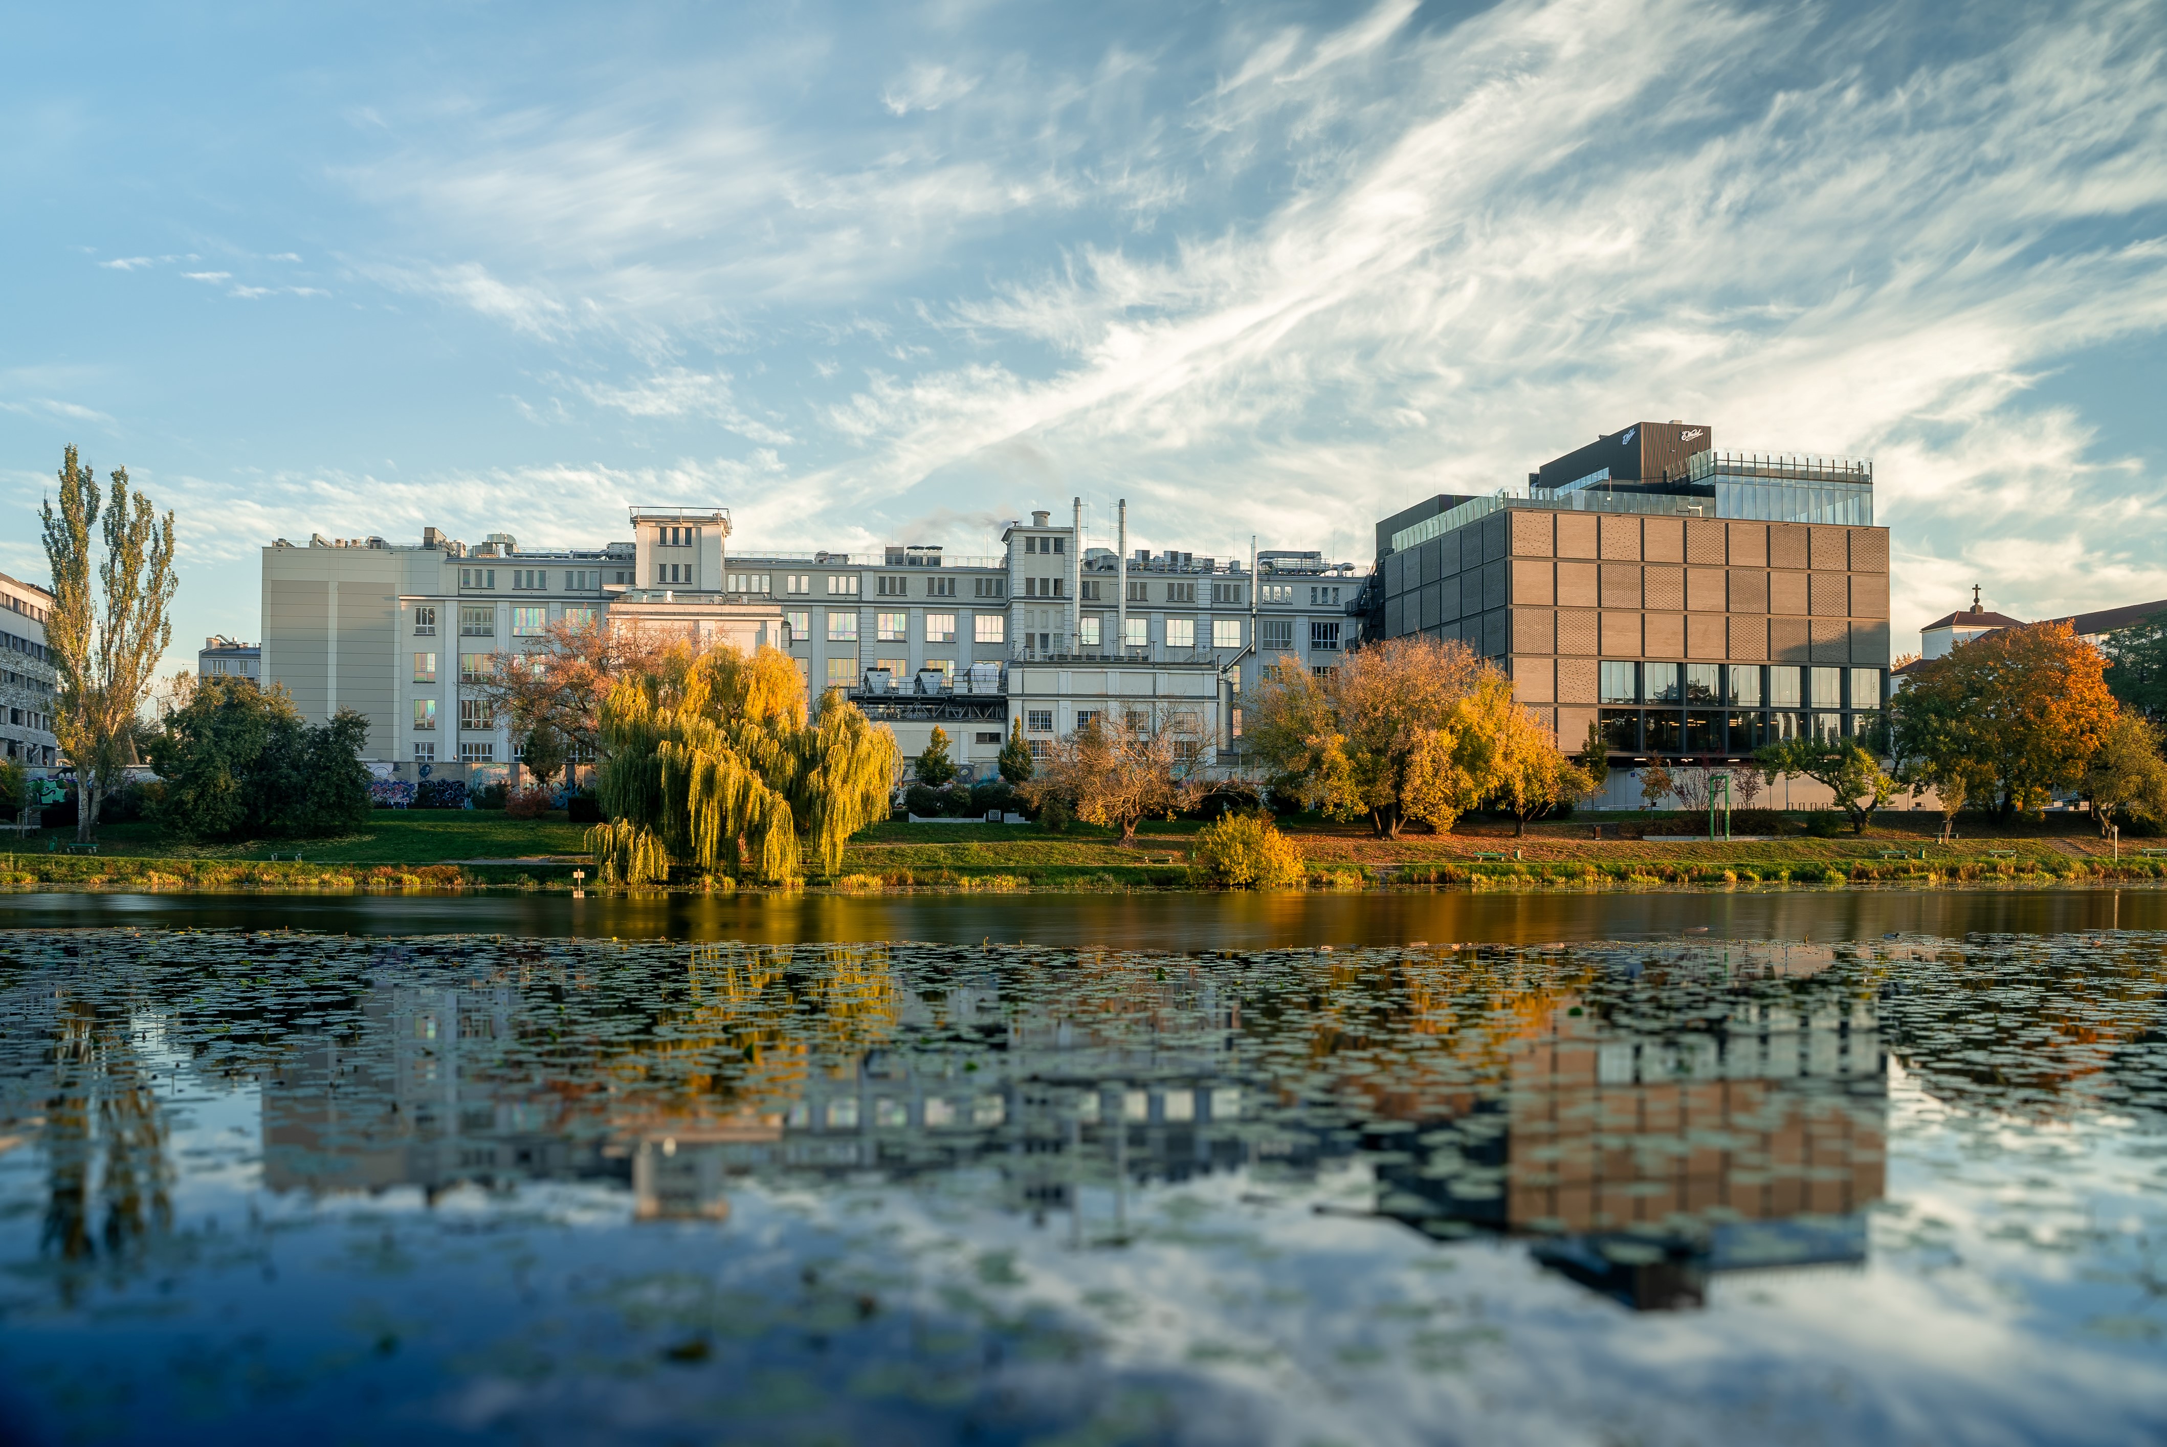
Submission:
[[[646,884],[670,864],[780,884],[843,864],[845,840],[888,812],[895,734],[830,691],[804,717],[797,665],[774,648],[678,652],[620,678],[602,702],[600,801],[587,847],[602,879]]]

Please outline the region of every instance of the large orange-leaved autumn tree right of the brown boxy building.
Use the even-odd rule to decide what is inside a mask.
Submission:
[[[1898,778],[1981,799],[1996,819],[2076,788],[2113,719],[2106,659],[2069,624],[1963,643],[1890,704]]]

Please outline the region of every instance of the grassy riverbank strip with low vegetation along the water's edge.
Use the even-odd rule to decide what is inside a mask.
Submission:
[[[1796,821],[1799,817],[1790,817]],[[2119,860],[2082,817],[2017,823],[1937,843],[1937,814],[1896,814],[1866,834],[1786,834],[1755,840],[1632,838],[1634,832],[1684,834],[1679,817],[1606,814],[1530,825],[1469,821],[1450,834],[1374,838],[1367,830],[1313,817],[1281,819],[1300,856],[1289,890],[1582,890],[1582,888],[1864,888],[1864,886],[2082,886],[2167,882],[2167,849],[2124,840]],[[1593,825],[1604,838],[1593,838]],[[1701,825],[1705,830],[1705,823]],[[1976,827],[1976,825],[1974,825]],[[1144,825],[1133,847],[1116,830],[1070,825],[875,823],[854,834],[832,873],[802,884],[754,886],[730,875],[672,871],[674,892],[1029,892],[1029,890],[1188,890],[1214,888],[1194,869],[1194,821]],[[1619,838],[1617,834],[1627,834]],[[104,825],[100,853],[48,851],[39,830],[20,845],[0,834],[0,888],[111,892],[397,892],[540,890],[568,892],[572,871],[602,892],[581,825],[557,819],[507,819],[492,810],[436,814],[377,810],[366,830],[301,845],[191,845],[150,825]],[[271,851],[282,858],[273,860]],[[1480,858],[1489,856],[1489,858]],[[611,886],[620,892],[626,886]]]

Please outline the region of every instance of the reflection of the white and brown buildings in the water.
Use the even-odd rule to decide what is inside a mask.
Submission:
[[[563,973],[390,968],[360,1029],[267,1081],[264,1178],[607,1181],[637,1220],[722,1222],[752,1174],[969,1168],[988,1204],[1097,1246],[1127,1239],[1136,1183],[1372,1150],[1385,1217],[1526,1235],[1614,1300],[1695,1306],[1712,1274],[1864,1263],[1883,1191],[1872,996],[1827,951],[1777,955],[1682,1009],[1586,951],[1361,957],[1311,992],[1318,964],[1259,986],[1127,955],[1003,975],[977,951],[704,947],[639,1018]]]

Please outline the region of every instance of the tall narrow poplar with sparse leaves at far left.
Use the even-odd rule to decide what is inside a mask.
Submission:
[[[137,762],[137,706],[173,639],[173,513],[160,520],[150,498],[130,492],[128,468],[115,470],[111,496],[102,494],[72,446],[59,477],[61,509],[52,498],[41,505],[52,570],[46,641],[61,676],[52,732],[76,767],[76,838],[87,843],[104,795]],[[93,537],[100,520],[102,557]]]

